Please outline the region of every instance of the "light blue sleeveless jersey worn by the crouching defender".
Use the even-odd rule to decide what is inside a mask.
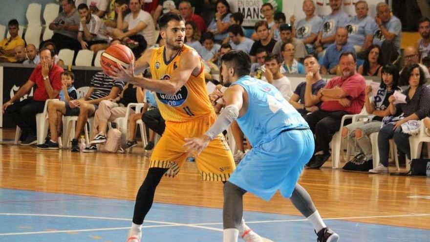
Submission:
[[[282,131],[309,127],[300,113],[271,84],[243,76],[233,85],[240,85],[248,93],[248,110],[237,119],[237,123],[252,146],[272,140]]]

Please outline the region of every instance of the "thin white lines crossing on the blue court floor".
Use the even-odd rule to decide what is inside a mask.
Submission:
[[[55,214],[16,214],[16,213],[0,213],[0,216],[38,216],[38,217],[60,217],[60,218],[79,218],[79,219],[100,219],[100,220],[123,220],[131,221],[130,219],[122,218],[109,218],[109,217],[93,217],[93,216],[77,216],[77,215],[55,215]],[[362,217],[343,217],[343,218],[327,218],[323,220],[347,220],[347,219],[372,219],[372,218],[399,218],[399,217],[422,217],[430,216],[430,214],[404,214],[404,215],[384,215],[384,216],[362,216]],[[246,223],[268,223],[268,222],[297,222],[306,221],[307,219],[296,219],[296,220],[261,220],[261,221],[247,221]],[[212,228],[203,225],[219,225],[222,222],[217,223],[175,223],[175,222],[164,222],[164,221],[154,221],[146,220],[146,222],[160,223],[162,225],[144,225],[143,228],[156,228],[156,227],[192,227],[192,228],[202,228],[213,231],[222,232],[222,229]],[[390,226],[384,224],[386,226]],[[35,231],[35,232],[19,232],[19,233],[1,233],[0,236],[9,235],[30,235],[30,234],[50,234],[50,233],[71,233],[71,232],[88,232],[88,231],[107,231],[107,230],[122,230],[129,229],[130,227],[113,227],[113,228],[95,228],[95,229],[79,229],[79,230],[58,230],[58,231]],[[414,228],[411,228],[414,229]]]

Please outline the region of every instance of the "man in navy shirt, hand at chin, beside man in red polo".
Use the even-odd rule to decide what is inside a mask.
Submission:
[[[317,93],[326,83],[321,77],[320,64],[315,56],[306,56],[303,63],[306,70],[306,81],[297,86],[289,102],[302,116],[305,116],[320,109],[321,101]]]

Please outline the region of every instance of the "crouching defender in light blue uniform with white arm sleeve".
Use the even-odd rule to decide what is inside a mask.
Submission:
[[[314,151],[313,134],[278,89],[249,76],[250,68],[250,58],[242,50],[222,56],[222,80],[232,83],[224,94],[226,107],[202,137],[187,138],[184,145],[198,155],[237,120],[253,146],[224,185],[223,242],[237,242],[246,192],[269,200],[278,190],[312,223],[318,242],[337,242],[339,236],[325,226],[309,194],[297,183]]]

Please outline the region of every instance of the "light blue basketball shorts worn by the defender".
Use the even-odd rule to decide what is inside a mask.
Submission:
[[[264,200],[270,200],[278,190],[290,198],[314,147],[310,130],[281,132],[273,140],[253,147],[229,181]]]

